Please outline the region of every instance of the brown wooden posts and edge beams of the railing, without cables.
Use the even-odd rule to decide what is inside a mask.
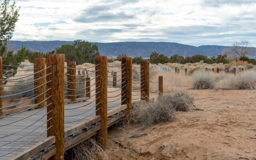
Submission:
[[[117,73],[113,74],[112,87],[121,88],[121,103],[119,106],[108,110],[107,101],[107,85],[108,85],[108,66],[106,56],[96,56],[95,58],[95,103],[96,114],[92,118],[87,118],[83,122],[79,122],[71,128],[64,129],[64,95],[68,95],[69,102],[78,103],[82,98],[76,98],[76,76],[80,76],[81,81],[84,82],[84,97],[90,98],[91,94],[91,80],[89,73],[82,70],[82,75],[76,75],[76,62],[67,62],[67,87],[70,89],[64,93],[64,54],[47,54],[45,58],[34,58],[34,104],[22,106],[19,108],[12,108],[2,110],[2,96],[3,87],[0,87],[0,118],[5,115],[14,114],[16,112],[23,112],[24,110],[32,110],[35,108],[47,108],[47,138],[36,143],[34,146],[24,150],[21,154],[13,156],[11,159],[26,159],[45,148],[52,146],[54,149],[44,154],[43,158],[52,160],[63,160],[64,151],[73,147],[74,145],[96,135],[98,142],[103,149],[108,147],[108,126],[116,123],[120,118],[127,116],[130,118],[132,110],[132,93],[134,88],[133,83],[133,66],[132,58],[123,57],[121,59],[120,86],[118,85]],[[150,76],[149,76],[149,61],[142,61],[138,69],[140,75],[139,87],[135,87],[140,95],[140,100],[150,100]],[[86,72],[86,73],[85,73]],[[0,86],[2,81],[2,57],[0,57]],[[151,81],[153,82],[153,81]],[[163,77],[159,76],[157,94],[162,95],[163,92]],[[44,85],[46,84],[46,85]],[[38,87],[39,86],[39,87]],[[44,94],[46,93],[46,94]],[[39,96],[38,96],[39,95]],[[83,99],[87,100],[87,99]],[[85,132],[86,128],[92,128]],[[73,135],[79,135],[74,136]]]

